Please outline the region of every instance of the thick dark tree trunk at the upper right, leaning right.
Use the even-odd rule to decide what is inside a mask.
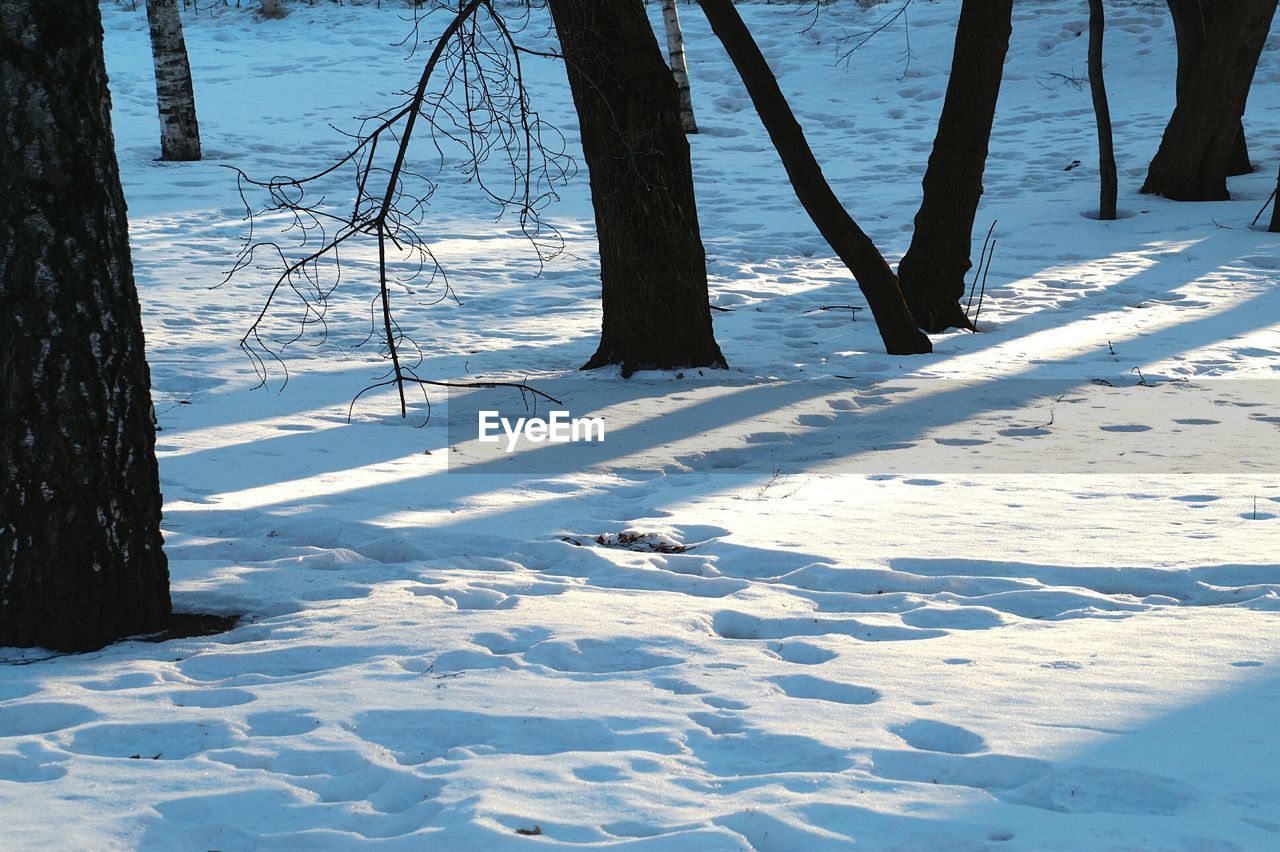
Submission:
[[[1175,201],[1229,198],[1240,115],[1276,0],[1233,0],[1215,8],[1204,43],[1183,74],[1183,92],[1142,191]]]

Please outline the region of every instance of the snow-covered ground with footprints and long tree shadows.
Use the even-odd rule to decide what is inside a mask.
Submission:
[[[998,220],[984,333],[891,358],[868,316],[813,311],[863,302],[682,8],[732,371],[577,375],[599,329],[585,175],[550,211],[568,252],[540,278],[445,175],[428,234],[461,304],[401,297],[421,375],[572,385],[631,436],[577,468],[448,472],[465,453],[443,395],[430,420],[370,394],[347,421],[383,371],[355,348],[367,257],[328,342],[285,351],[283,389],[278,367],[255,389],[237,348],[269,274],[210,289],[243,232],[220,164],[314,170],[342,151],[328,123],[416,78],[384,5],[188,15],[206,161],[183,165],[154,161],[143,13],[102,6],[174,601],[243,620],[6,651],[29,664],[0,668],[0,846],[1280,846],[1280,244],[1248,226],[1274,185],[1276,35],[1245,119],[1260,170],[1230,202],[1179,205],[1137,193],[1172,106],[1167,12],[1107,4],[1132,215],[1098,223],[1071,83],[1084,4],[1016,4],[978,214]],[[847,68],[840,36],[884,6],[808,28],[741,6],[895,262],[957,5],[911,5],[909,63],[900,22]],[[575,150],[563,69],[530,73]]]

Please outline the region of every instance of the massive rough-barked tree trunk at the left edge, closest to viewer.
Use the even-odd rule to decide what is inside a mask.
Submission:
[[[169,618],[96,0],[0,0],[0,645]]]

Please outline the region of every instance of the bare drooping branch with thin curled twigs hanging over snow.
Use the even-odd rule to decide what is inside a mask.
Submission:
[[[526,50],[516,41],[516,33],[527,23],[527,12],[524,19],[512,19],[515,27],[493,0],[438,1],[425,14],[436,12],[448,14],[448,20],[433,42],[417,84],[402,92],[406,100],[399,105],[365,116],[355,133],[346,133],[352,146],[335,162],[308,177],[268,180],[236,169],[248,233],[227,280],[253,265],[260,255],[271,257],[278,270],[261,311],[241,338],[241,348],[262,384],[268,379],[268,358],[279,363],[288,381],[280,351],[300,340],[311,326],[320,326],[321,343],[326,339],[330,296],[344,279],[355,278],[348,271],[352,261],[344,258],[358,255],[357,247],[365,246],[366,251],[376,252],[376,272],[370,276],[376,287],[369,302],[370,325],[364,342],[378,336],[390,367],[384,380],[361,390],[352,406],[370,390],[394,386],[403,417],[406,385],[477,386],[419,377],[422,349],[404,334],[392,304],[393,292],[412,294],[411,285],[424,279],[425,284],[417,288],[435,292],[428,304],[457,298],[425,235],[438,177],[451,164],[494,205],[497,219],[515,216],[521,235],[534,249],[539,271],[563,251],[559,232],[545,221],[543,211],[558,197],[556,187],[568,180],[575,165],[566,154],[563,136],[543,122],[529,101],[521,58],[544,54]],[[424,19],[415,14],[410,36],[415,47]],[[424,127],[434,148],[435,177],[415,170],[411,162],[411,143],[421,137]],[[355,192],[351,202],[338,207],[324,193],[342,178],[351,180]],[[255,210],[248,194],[259,191],[268,200]],[[284,247],[275,239],[259,239],[256,225],[264,220],[279,223],[283,233],[294,234],[296,244]],[[285,293],[301,303],[301,316],[294,331],[280,336],[273,334],[271,319],[280,307],[279,297]],[[547,397],[517,383],[479,386],[498,385]]]

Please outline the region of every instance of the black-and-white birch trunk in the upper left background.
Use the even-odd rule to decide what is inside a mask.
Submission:
[[[200,124],[178,0],[147,0],[147,23],[160,107],[160,159],[198,160]]]

